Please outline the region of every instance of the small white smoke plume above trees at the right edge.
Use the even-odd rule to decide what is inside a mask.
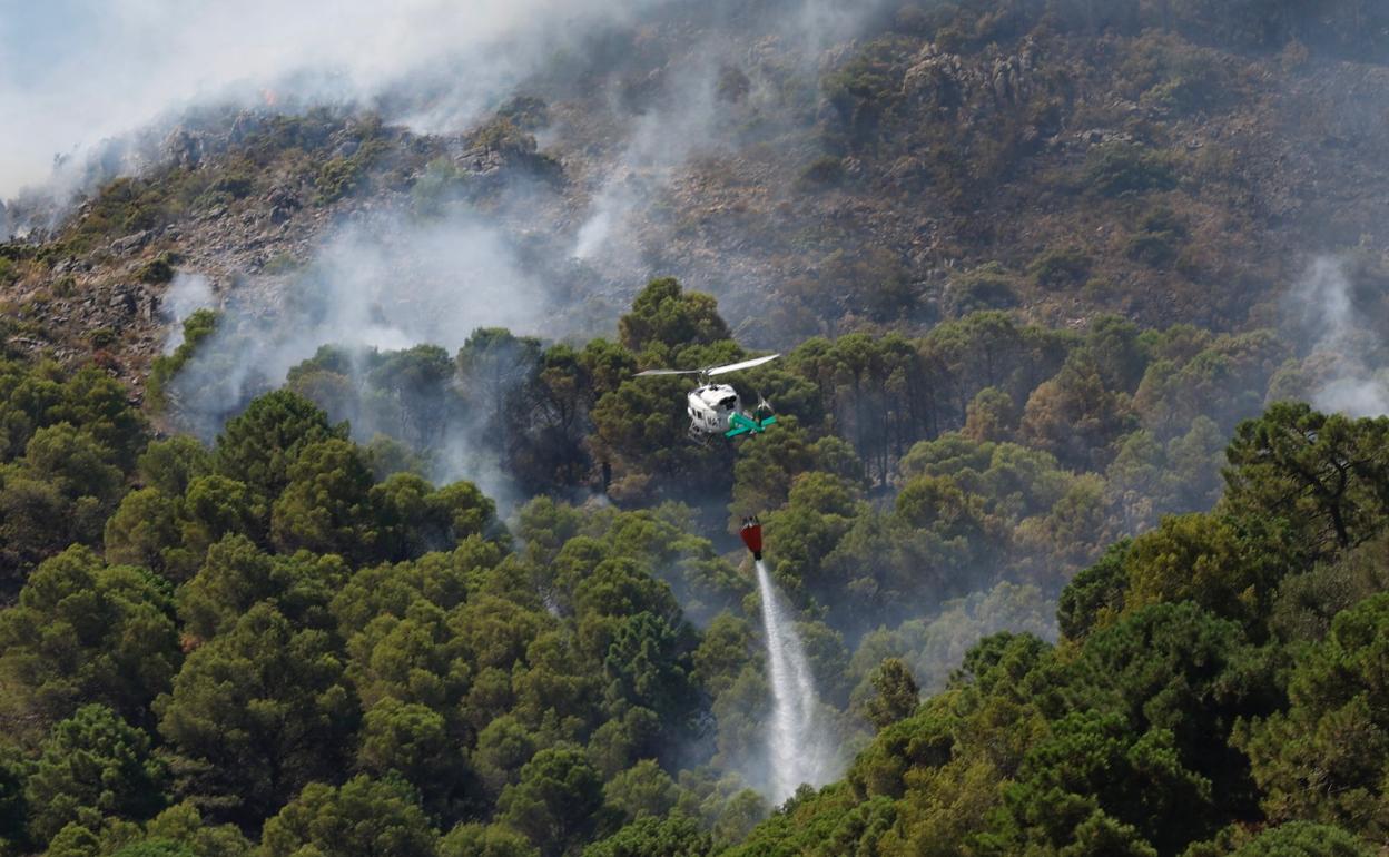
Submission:
[[[1350,417],[1389,414],[1389,378],[1370,357],[1379,338],[1356,310],[1345,261],[1314,260],[1288,303],[1314,343],[1307,363],[1321,367],[1308,390],[1313,406]]]

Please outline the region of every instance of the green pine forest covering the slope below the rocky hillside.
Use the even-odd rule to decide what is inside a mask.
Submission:
[[[804,343],[738,446],[631,378],[745,356],[656,281],[615,342],[324,349],[211,446],[7,360],[7,851],[1386,842],[1389,419],[1261,407],[1258,333],[992,311]],[[429,479],[463,425],[528,499]],[[753,513],[847,765],[775,811]]]

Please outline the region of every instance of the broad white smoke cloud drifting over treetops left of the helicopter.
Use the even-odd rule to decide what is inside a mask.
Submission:
[[[428,343],[451,353],[482,326],[563,331],[554,304],[508,238],[478,217],[421,224],[374,215],[332,236],[301,272],[236,288],[171,394],[185,428],[210,439],[321,346],[363,353]],[[504,479],[478,451],[472,428],[453,426],[440,440],[431,475],[469,478],[501,493]]]

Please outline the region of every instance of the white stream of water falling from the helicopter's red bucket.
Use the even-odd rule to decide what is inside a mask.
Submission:
[[[772,679],[772,721],[768,744],[772,763],[772,800],[782,803],[801,783],[818,786],[836,774],[832,739],[818,717],[820,696],[795,625],[767,565],[757,561],[763,601],[767,667]]]

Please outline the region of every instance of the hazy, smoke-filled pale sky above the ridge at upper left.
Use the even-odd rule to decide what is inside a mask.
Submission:
[[[369,94],[503,38],[519,68],[640,3],[0,0],[0,199],[43,181],[54,154],[192,100],[251,97],[303,71],[325,94]]]

